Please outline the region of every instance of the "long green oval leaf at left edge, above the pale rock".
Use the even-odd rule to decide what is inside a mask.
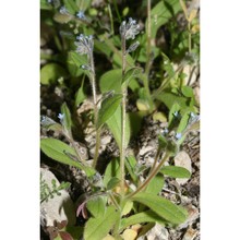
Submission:
[[[87,177],[93,176],[95,173],[94,169],[82,166],[80,163],[71,159],[65,153],[76,157],[75,151],[65,143],[61,142],[60,140],[50,137],[43,139],[40,140],[40,149],[53,160],[69,166],[74,166],[84,170]]]

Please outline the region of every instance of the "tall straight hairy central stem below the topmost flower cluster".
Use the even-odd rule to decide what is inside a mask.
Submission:
[[[122,79],[125,74],[125,37],[122,36]],[[122,87],[122,122],[121,122],[121,149],[120,149],[120,179],[121,179],[121,195],[124,195],[124,160],[125,160],[125,105],[127,105],[128,89]]]

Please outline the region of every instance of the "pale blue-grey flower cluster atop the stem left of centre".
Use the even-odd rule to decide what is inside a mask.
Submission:
[[[76,52],[80,55],[89,55],[94,49],[94,39],[93,36],[84,36],[81,34],[76,37],[79,41],[74,41],[76,48]]]

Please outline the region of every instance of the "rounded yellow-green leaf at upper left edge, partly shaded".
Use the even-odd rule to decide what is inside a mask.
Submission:
[[[61,65],[48,63],[40,70],[40,83],[44,85],[56,83],[59,77],[64,77],[65,75],[65,70]]]

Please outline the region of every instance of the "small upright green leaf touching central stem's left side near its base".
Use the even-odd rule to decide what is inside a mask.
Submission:
[[[119,158],[113,158],[107,166],[104,175],[104,185],[107,188],[108,182],[112,178],[120,179],[120,165]]]

